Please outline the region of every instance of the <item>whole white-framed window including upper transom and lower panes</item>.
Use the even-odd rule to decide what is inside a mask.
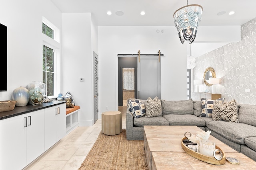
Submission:
[[[53,98],[60,93],[60,30],[43,17],[42,33],[43,83],[46,84],[46,95]]]

